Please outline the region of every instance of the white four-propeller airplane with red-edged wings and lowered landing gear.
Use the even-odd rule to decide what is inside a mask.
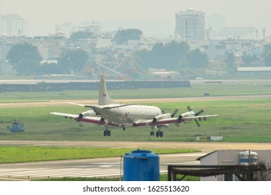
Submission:
[[[138,105],[138,104],[117,104],[108,95],[106,88],[106,79],[104,73],[100,79],[99,89],[99,101],[98,104],[76,104],[90,110],[81,114],[65,114],[59,112],[51,112],[50,114],[64,116],[65,118],[71,118],[76,121],[82,121],[85,123],[94,123],[97,125],[104,125],[104,136],[110,137],[110,129],[121,127],[126,130],[126,127],[150,127],[150,135],[154,136],[154,129],[156,131],[156,137],[163,137],[162,128],[167,128],[170,124],[175,124],[179,127],[180,123],[188,123],[195,120],[197,126],[200,127],[199,121],[207,120],[207,118],[215,117],[218,115],[206,115],[199,116],[204,111],[200,110],[197,113],[192,111],[190,107],[187,107],[188,111],[180,114],[178,117],[174,117],[178,110],[175,109],[172,114],[164,113],[160,108],[154,106]]]

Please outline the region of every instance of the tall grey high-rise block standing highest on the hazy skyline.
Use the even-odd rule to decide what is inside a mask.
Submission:
[[[205,13],[189,8],[176,13],[175,36],[184,40],[204,40]]]

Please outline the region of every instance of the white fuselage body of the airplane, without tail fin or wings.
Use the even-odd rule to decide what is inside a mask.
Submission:
[[[121,104],[110,104],[107,106],[120,106]],[[162,111],[158,107],[129,105],[126,107],[117,107],[113,109],[102,109],[101,106],[92,107],[96,114],[106,118],[110,122],[129,125],[138,120],[148,120],[161,115]]]

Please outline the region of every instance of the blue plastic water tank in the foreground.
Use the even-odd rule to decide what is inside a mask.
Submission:
[[[159,156],[149,150],[134,150],[124,155],[124,181],[158,181]]]

